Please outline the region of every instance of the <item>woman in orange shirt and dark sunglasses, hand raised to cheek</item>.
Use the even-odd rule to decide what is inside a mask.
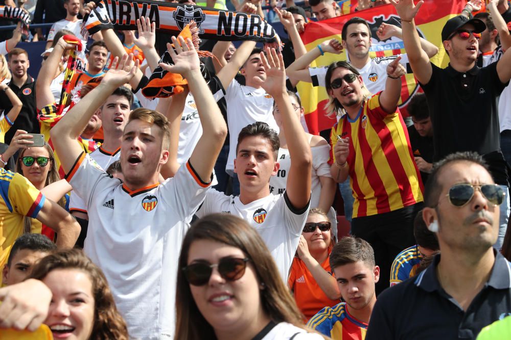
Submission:
[[[288,279],[305,321],[322,308],[339,303],[341,294],[329,262],[332,247],[330,219],[318,208],[311,209]]]

